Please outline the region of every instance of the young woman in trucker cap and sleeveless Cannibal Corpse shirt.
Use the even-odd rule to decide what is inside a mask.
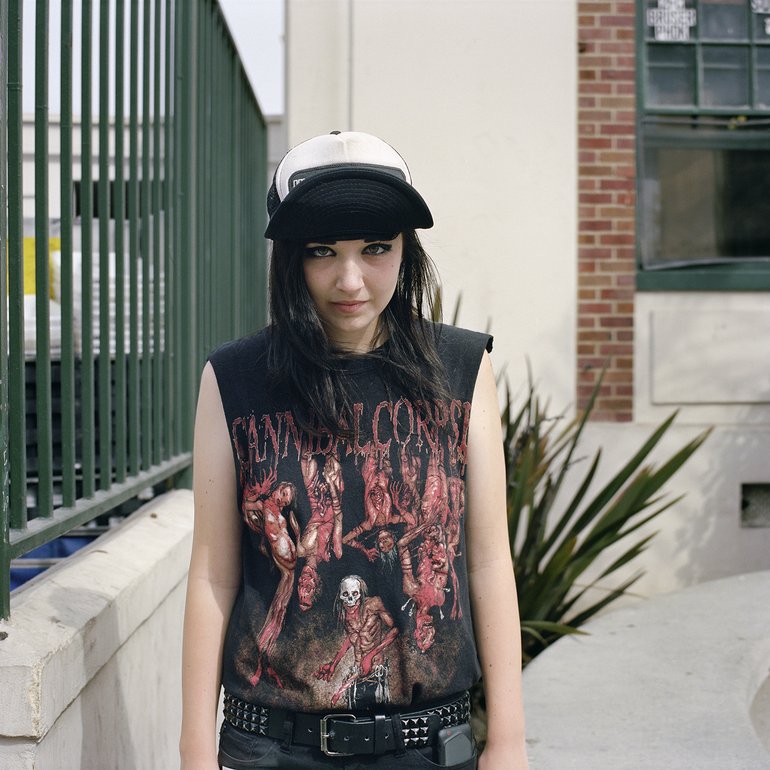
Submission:
[[[201,380],[182,770],[527,768],[491,338],[423,319],[433,219],[380,139],[303,142],[268,210],[271,323]]]

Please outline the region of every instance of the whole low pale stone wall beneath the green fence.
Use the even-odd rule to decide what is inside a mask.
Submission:
[[[25,584],[0,621],[0,770],[179,767],[192,492]]]

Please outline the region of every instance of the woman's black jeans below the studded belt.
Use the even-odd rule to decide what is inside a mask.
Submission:
[[[320,746],[292,744],[287,751],[276,738],[266,738],[246,732],[223,722],[219,734],[219,764],[230,770],[249,768],[279,768],[279,770],[434,770],[442,765],[434,762],[434,748],[411,748],[407,752],[385,754],[356,754],[350,757],[330,757]],[[473,757],[453,770],[476,770],[478,758]]]

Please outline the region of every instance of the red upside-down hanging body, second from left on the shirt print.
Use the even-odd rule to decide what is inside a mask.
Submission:
[[[340,494],[345,484],[336,453],[326,457],[326,464],[321,471],[309,447],[304,447],[300,462],[311,511],[310,521],[296,547],[297,556],[306,560],[296,588],[300,608],[304,611],[310,609],[320,591],[318,562],[329,561],[332,551],[338,559],[342,557]]]

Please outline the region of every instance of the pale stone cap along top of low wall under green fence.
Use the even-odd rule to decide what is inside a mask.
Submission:
[[[49,732],[185,580],[191,545],[192,492],[174,490],[12,594],[0,622],[0,746]]]

